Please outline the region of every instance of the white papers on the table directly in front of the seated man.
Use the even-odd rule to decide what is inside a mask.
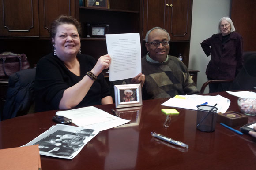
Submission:
[[[230,106],[230,99],[224,98],[220,95],[217,96],[202,96],[202,95],[180,95],[186,99],[180,98],[170,98],[168,101],[164,102],[162,105],[169,107],[177,107],[184,109],[197,110],[197,105],[201,105],[205,102],[208,102],[207,105],[214,106],[218,108],[217,112],[225,113]]]

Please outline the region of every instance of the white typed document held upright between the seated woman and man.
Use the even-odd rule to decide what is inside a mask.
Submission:
[[[139,33],[107,34],[106,43],[111,57],[109,81],[133,78],[141,72]]]

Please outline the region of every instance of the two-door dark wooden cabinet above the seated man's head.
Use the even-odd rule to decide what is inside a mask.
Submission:
[[[143,37],[159,26],[171,40],[190,40],[192,0],[144,0],[143,6]]]

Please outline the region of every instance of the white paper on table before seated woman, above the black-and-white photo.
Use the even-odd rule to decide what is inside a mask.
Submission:
[[[79,127],[93,128],[98,131],[117,127],[130,121],[113,116],[94,106],[59,111],[56,115],[72,119],[72,123]]]

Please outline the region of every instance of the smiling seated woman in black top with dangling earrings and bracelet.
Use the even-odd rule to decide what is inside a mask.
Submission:
[[[81,25],[71,16],[57,18],[50,33],[54,52],[41,58],[36,69],[36,112],[113,103],[101,73],[110,56],[96,62],[81,55]]]

